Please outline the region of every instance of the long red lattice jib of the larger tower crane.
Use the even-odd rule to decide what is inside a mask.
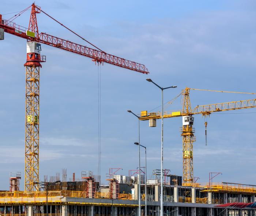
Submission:
[[[26,35],[27,28],[17,25],[16,23],[10,22],[8,20],[1,19],[0,15],[0,28],[3,28],[5,32],[16,35],[20,38],[25,38],[27,40],[34,40],[40,43],[44,43],[53,47],[60,48],[65,51],[73,52],[78,55],[86,56],[93,59],[95,62],[105,62],[108,64],[113,64],[118,67],[127,68],[129,70],[137,71],[143,74],[148,74],[147,68],[144,64],[132,62],[105,52],[95,50],[80,44],[70,42],[55,36],[40,33],[37,38],[31,38]]]

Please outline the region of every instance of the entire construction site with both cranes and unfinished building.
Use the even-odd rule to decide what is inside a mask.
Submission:
[[[28,28],[14,22],[25,11],[30,11]],[[40,13],[44,13],[94,48],[40,33],[37,24],[37,16]],[[1,190],[0,185],[0,216],[256,216],[256,185],[236,182],[215,183],[214,178],[220,175],[220,172],[210,172],[208,182],[200,183],[199,178],[193,174],[193,143],[196,141],[193,116],[200,115],[205,120],[207,145],[207,117],[217,112],[255,108],[256,99],[192,107],[189,97],[191,90],[243,95],[255,93],[184,87],[178,95],[182,101],[180,110],[163,111],[162,109],[159,112],[142,110],[139,115],[128,110],[138,117],[139,122],[147,121],[150,127],[157,127],[157,119],[174,117],[182,119],[179,134],[182,140],[182,174],[180,175],[173,174],[171,168],[162,167],[161,172],[160,164],[156,167],[158,169],[149,170],[146,165],[141,166],[139,162],[139,166],[134,170],[124,171],[128,175],[120,174],[122,168],[109,168],[106,170],[106,176],[81,168],[80,173],[67,176],[67,169],[62,168],[54,176],[44,175],[44,180],[40,181],[39,73],[42,63],[46,62],[46,56],[41,55],[43,52],[41,44],[90,58],[97,65],[107,63],[142,74],[149,74],[149,71],[144,64],[100,50],[48,15],[35,3],[8,20],[0,15],[1,43],[4,43],[5,34],[26,40],[25,172],[10,170],[10,178],[6,179],[10,182],[8,191]],[[153,82],[151,79],[147,81]],[[159,88],[162,91],[167,89]],[[143,147],[146,153],[146,147],[140,145],[140,140],[135,145],[139,146],[140,154],[144,154]],[[21,179],[25,182],[24,189],[20,186]],[[104,181],[108,184],[104,184]]]

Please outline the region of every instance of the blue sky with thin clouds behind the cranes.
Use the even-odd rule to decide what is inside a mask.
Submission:
[[[20,11],[30,1],[1,3],[0,13]],[[138,166],[137,120],[127,113],[152,110],[176,97],[186,86],[198,89],[255,91],[255,1],[36,1],[48,14],[102,50],[146,65],[149,75],[108,64],[102,75],[102,179],[110,167],[120,174]],[[9,18],[5,15],[3,18]],[[80,44],[44,14],[39,32]],[[15,20],[27,26],[29,12]],[[68,179],[82,170],[97,174],[98,66],[90,59],[42,45],[40,77],[40,178],[67,168]],[[5,34],[0,42],[0,190],[8,189],[9,172],[24,180],[24,105],[26,41]],[[253,95],[191,91],[191,105],[255,98]],[[166,110],[181,109],[180,98]],[[158,111],[156,109],[155,111]],[[194,176],[207,182],[209,172],[222,172],[215,181],[255,184],[255,109],[212,114],[208,145],[204,119],[195,116]],[[244,114],[232,114],[244,113]],[[161,127],[141,122],[141,144],[147,146],[148,178],[160,168]],[[164,121],[164,168],[182,175],[181,118]],[[142,157],[142,161],[144,158]]]

